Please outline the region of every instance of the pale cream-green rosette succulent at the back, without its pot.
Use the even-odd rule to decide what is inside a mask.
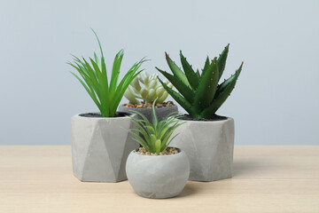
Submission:
[[[141,83],[143,86],[141,86]],[[165,82],[167,87],[173,88],[173,84]],[[158,83],[158,74],[149,75],[145,71],[136,76],[130,83],[131,88],[125,91],[124,96],[131,104],[138,104],[137,99],[142,99],[144,104],[151,103],[156,100],[156,103],[163,103],[167,99],[168,93],[164,87]]]

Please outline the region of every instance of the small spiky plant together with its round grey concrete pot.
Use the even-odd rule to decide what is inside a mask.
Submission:
[[[140,114],[142,119],[131,118],[137,129],[129,132],[146,152],[143,148],[133,150],[128,155],[126,171],[129,184],[140,196],[170,198],[181,193],[186,185],[190,176],[190,162],[183,150],[168,147],[178,135],[171,137],[172,134],[183,124],[177,119],[179,115],[167,115],[159,121],[155,113],[155,102],[152,104],[152,123],[144,114]]]

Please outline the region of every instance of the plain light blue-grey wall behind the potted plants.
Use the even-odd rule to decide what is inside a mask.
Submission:
[[[245,61],[218,114],[237,145],[319,145],[319,1],[1,1],[0,145],[68,145],[73,114],[97,111],[68,73],[70,53],[104,47],[110,70],[137,59],[168,69],[164,51],[203,67],[230,43],[224,78]],[[123,99],[123,102],[125,100]]]

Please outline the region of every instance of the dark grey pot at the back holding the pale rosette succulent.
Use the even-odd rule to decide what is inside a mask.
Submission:
[[[128,113],[132,113],[132,111],[136,111],[140,114],[144,114],[145,117],[152,122],[152,108],[132,108],[132,107],[127,107],[127,106],[123,106],[120,105],[119,106],[119,111],[121,112],[128,112]],[[167,114],[171,114],[171,113],[178,113],[178,108],[177,106],[166,106],[166,107],[159,107],[159,108],[155,108],[155,112],[158,116],[159,121],[163,120],[163,118],[165,116],[167,116]],[[141,116],[137,116],[138,119],[141,119]]]

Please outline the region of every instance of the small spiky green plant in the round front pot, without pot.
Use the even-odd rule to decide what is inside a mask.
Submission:
[[[132,122],[137,126],[137,129],[128,130],[134,139],[145,148],[147,152],[152,154],[159,154],[164,152],[169,146],[170,142],[178,135],[176,134],[171,138],[173,132],[177,127],[183,124],[177,118],[181,114],[167,114],[167,116],[162,120],[158,121],[158,117],[155,112],[155,101],[152,104],[152,123],[144,116],[132,110],[132,112],[139,114],[142,119],[137,119],[135,117],[129,116]]]

